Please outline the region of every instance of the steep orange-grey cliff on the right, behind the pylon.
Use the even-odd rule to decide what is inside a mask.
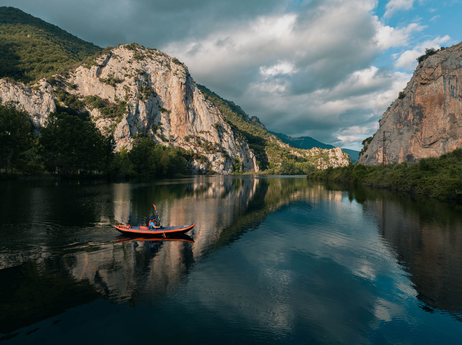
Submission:
[[[419,63],[410,82],[385,111],[360,164],[414,162],[462,146],[462,43]],[[383,157],[383,132],[386,157]],[[391,132],[391,133],[388,133]]]

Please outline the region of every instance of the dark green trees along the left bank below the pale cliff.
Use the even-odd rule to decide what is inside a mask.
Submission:
[[[0,101],[0,179],[48,177],[166,177],[190,174],[194,152],[137,136],[130,151],[114,152],[88,113],[61,107],[49,114],[40,135],[18,102]]]

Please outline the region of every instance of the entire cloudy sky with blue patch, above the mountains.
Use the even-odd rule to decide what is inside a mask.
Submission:
[[[361,149],[462,0],[0,0],[100,47],[137,42],[267,129]]]

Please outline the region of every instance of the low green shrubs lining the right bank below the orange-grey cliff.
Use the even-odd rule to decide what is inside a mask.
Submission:
[[[343,168],[313,171],[308,177],[389,188],[462,204],[462,149],[456,149],[439,158],[422,158],[417,163],[385,166],[350,164]]]

